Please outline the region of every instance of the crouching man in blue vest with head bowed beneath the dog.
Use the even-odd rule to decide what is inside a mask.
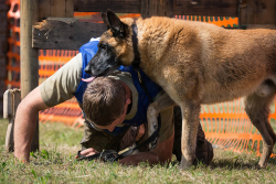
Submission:
[[[83,94],[87,86],[86,82],[91,80],[89,76],[85,74],[84,68],[89,59],[95,55],[97,51],[97,43],[98,40],[92,40],[89,43],[82,46],[79,54],[72,58],[53,76],[43,82],[39,87],[32,90],[21,101],[17,110],[14,126],[14,155],[18,159],[29,161],[30,144],[35,129],[35,115],[38,111],[59,105],[74,96],[78,100],[81,108],[83,108],[83,105],[85,105],[86,101],[88,104],[86,104],[85,107],[94,102],[94,100],[89,100],[89,96],[84,98],[85,100],[83,101]],[[139,86],[136,83],[137,78],[135,78],[136,75],[136,72],[131,68],[120,68],[119,72],[112,74],[109,77],[97,78],[91,83],[89,86],[92,87],[87,89],[87,93],[99,89],[99,86],[97,86],[98,84],[108,84],[109,87],[104,89],[106,91],[108,91],[107,89],[110,89],[110,95],[114,95],[113,89],[120,86],[118,87],[121,90],[119,94],[125,95],[121,96],[118,94],[110,96],[109,99],[121,98],[124,99],[124,104],[117,99],[117,101],[120,101],[120,108],[114,107],[110,109],[100,109],[99,101],[98,106],[93,106],[93,108],[98,107],[100,109],[99,111],[95,111],[96,115],[100,117],[98,118],[96,116],[96,121],[95,117],[94,119],[91,117],[89,110],[86,111],[85,116],[88,117],[89,122],[87,120],[85,121],[85,133],[81,142],[84,151],[82,151],[81,154],[91,155],[104,149],[114,149],[119,151],[134,142],[139,142],[147,138],[145,136],[147,134],[147,126],[144,123],[147,121],[145,109],[149,104],[149,99],[147,99],[142,90],[139,89]],[[146,77],[146,82],[148,83],[148,86],[150,86],[150,94],[152,95],[152,98],[158,98],[158,96],[162,93],[161,88],[147,78],[146,75],[144,75],[144,77]],[[84,79],[82,80],[82,78]],[[102,91],[106,93],[105,90]],[[102,94],[98,95],[100,96]],[[121,112],[121,108],[124,109],[124,112],[117,115],[116,110]],[[102,118],[109,117],[113,112],[115,113],[113,118],[107,121],[103,119],[103,125],[98,123]],[[162,111],[161,120],[162,125],[158,145],[151,151],[145,148],[144,150],[140,150],[144,152],[127,156],[120,160],[119,163],[137,165],[141,161],[148,161],[152,164],[170,161],[174,138],[172,109]],[[129,123],[127,123],[127,121]],[[201,148],[208,147],[204,144],[204,147]],[[180,144],[178,150],[180,150]]]

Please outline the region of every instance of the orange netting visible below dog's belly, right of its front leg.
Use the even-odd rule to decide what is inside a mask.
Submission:
[[[270,111],[269,121],[275,121],[275,101]],[[214,145],[261,155],[262,137],[251,123],[241,99],[203,105],[200,118],[206,139]]]

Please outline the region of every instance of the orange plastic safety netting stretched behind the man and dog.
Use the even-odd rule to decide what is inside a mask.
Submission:
[[[6,85],[8,88],[20,88],[20,1],[9,0],[11,6],[8,12],[10,37],[7,65],[8,78]],[[75,12],[74,15],[81,21],[102,23],[98,12],[83,13]],[[140,14],[120,13],[119,17],[138,18]],[[195,17],[195,15],[176,15],[176,19],[191,21],[202,21],[216,24],[224,28],[237,28],[237,18],[224,17]],[[40,84],[53,75],[62,65],[68,62],[77,54],[76,51],[40,51]],[[211,106],[202,106],[201,123],[206,138],[214,144],[224,149],[231,149],[237,152],[253,152],[261,154],[262,137],[252,126],[248,117],[243,110],[241,99]],[[275,120],[275,106],[272,108],[269,120]],[[67,126],[82,126],[82,111],[76,99],[67,100],[56,107],[40,112],[40,120],[43,122],[61,121]]]

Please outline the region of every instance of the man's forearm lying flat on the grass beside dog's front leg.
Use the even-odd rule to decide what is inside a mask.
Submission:
[[[166,141],[159,143],[153,150],[129,155],[121,159],[119,163],[124,165],[138,165],[140,162],[148,162],[150,164],[168,163],[171,161],[173,140],[174,133]]]

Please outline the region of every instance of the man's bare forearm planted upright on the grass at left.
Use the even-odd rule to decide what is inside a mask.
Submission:
[[[29,162],[38,112],[46,108],[47,106],[41,97],[40,87],[33,89],[20,102],[14,122],[14,155],[20,161]]]

